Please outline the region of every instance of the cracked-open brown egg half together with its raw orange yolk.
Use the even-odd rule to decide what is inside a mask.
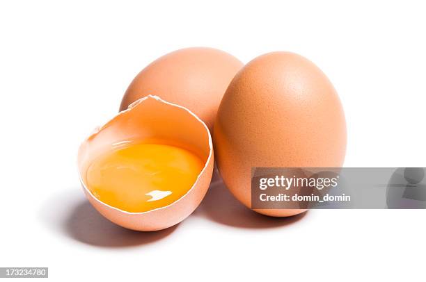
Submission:
[[[213,172],[206,124],[187,108],[148,95],[130,104],[79,147],[84,194],[120,226],[157,231],[200,204]]]

